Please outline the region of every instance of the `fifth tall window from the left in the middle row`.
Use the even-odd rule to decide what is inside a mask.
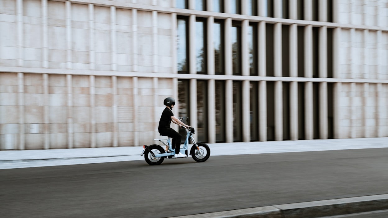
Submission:
[[[249,47],[249,75],[258,75],[258,61],[257,61],[257,26],[251,24],[248,27],[248,47]]]

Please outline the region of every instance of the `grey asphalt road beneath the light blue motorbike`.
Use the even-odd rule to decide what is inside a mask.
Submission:
[[[0,217],[170,217],[388,194],[388,148],[0,170]]]

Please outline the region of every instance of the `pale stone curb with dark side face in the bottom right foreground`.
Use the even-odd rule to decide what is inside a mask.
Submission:
[[[388,209],[388,194],[279,204],[171,218],[315,218]]]

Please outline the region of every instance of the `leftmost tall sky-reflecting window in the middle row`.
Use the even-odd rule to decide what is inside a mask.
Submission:
[[[187,17],[177,19],[177,64],[178,73],[188,73],[188,40],[187,40]]]

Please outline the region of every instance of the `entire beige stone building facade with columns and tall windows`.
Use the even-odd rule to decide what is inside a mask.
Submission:
[[[388,137],[388,0],[0,0],[0,150]]]

